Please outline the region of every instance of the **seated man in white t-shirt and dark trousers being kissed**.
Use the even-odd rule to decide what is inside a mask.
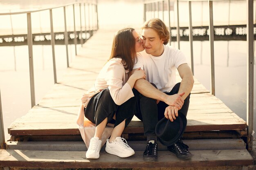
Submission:
[[[155,18],[146,22],[142,27],[142,38],[145,51],[137,53],[138,61],[133,69],[144,69],[146,79],[137,80],[134,86],[142,96],[139,100],[141,112],[136,116],[144,123],[144,135],[148,141],[144,159],[151,161],[157,160],[157,121],[163,117],[173,121],[178,113],[186,116],[194,80],[184,54],[167,45],[170,34],[162,20]],[[182,78],[178,84],[176,68]],[[188,148],[181,140],[167,147],[180,159],[192,157]]]

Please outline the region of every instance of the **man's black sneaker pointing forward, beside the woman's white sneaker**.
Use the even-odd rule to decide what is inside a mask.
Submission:
[[[144,161],[157,161],[157,143],[152,144],[148,142],[147,147],[143,153]]]

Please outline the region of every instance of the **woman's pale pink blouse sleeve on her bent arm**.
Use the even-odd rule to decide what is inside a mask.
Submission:
[[[123,86],[124,75],[124,66],[117,61],[110,64],[106,73],[106,82],[110,95],[117,105],[121,105],[131,97],[134,97],[130,85],[126,82]]]

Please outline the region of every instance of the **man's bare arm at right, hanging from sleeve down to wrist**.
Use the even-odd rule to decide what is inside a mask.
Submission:
[[[194,84],[194,78],[191,71],[191,68],[188,64],[181,64],[177,70],[179,71],[180,77],[182,78],[182,81],[180,83],[180,89],[178,93],[184,92],[185,94],[182,96],[183,99],[186,99],[186,97],[189,95],[193,88]]]

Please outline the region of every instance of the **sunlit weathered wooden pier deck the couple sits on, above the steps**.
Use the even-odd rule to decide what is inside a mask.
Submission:
[[[116,30],[115,30],[116,31]],[[29,112],[8,128],[18,135],[78,135],[76,115],[80,98],[94,83],[106,63],[114,31],[99,30],[88,40],[67,68],[63,79]],[[177,77],[180,80],[180,77]],[[245,130],[246,122],[232,112],[220,99],[211,96],[197,79],[190,98],[186,132],[210,130]],[[134,121],[124,133],[143,133],[140,121]]]

